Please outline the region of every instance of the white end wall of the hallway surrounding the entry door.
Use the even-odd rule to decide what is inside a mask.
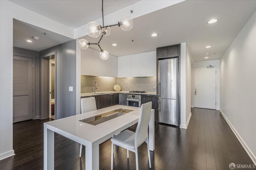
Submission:
[[[208,61],[198,61],[194,62],[192,65],[192,90],[191,90],[191,107],[194,107],[194,67],[206,67],[206,66],[216,66],[216,110],[220,109],[220,60],[208,60]]]

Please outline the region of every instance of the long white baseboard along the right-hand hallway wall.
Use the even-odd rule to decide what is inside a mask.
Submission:
[[[250,156],[250,158],[252,159],[252,162],[256,165],[256,156],[252,153],[252,151],[250,150],[250,148],[247,146],[247,144],[244,142],[244,140],[241,138],[241,136],[238,134],[238,132],[236,131],[236,129],[233,127],[233,125],[230,123],[230,121],[228,120],[228,118],[226,117],[226,115],[223,113],[223,111],[221,109],[219,109],[220,113],[222,114],[222,116],[224,117],[224,119],[226,120],[226,122],[228,123],[229,127],[232,129],[232,131],[234,132],[234,134],[236,135],[236,138],[238,138],[239,142],[242,144],[243,148],[246,150],[247,154]]]

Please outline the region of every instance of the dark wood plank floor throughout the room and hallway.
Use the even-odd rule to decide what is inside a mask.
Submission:
[[[1,170],[43,169],[43,123],[33,120],[14,123],[13,138],[15,156],[0,161]],[[188,128],[176,128],[163,124],[155,126],[155,150],[151,152],[154,170],[229,170],[235,164],[253,164],[246,151],[219,113],[208,109],[193,109]],[[55,169],[80,170],[85,167],[84,148],[79,158],[80,144],[55,134]],[[140,170],[148,168],[146,144],[138,149]],[[111,166],[111,142],[100,144],[100,169]],[[116,170],[134,170],[135,154],[115,147]]]

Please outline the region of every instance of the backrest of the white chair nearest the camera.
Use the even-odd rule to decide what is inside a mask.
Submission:
[[[135,147],[140,146],[142,142],[148,138],[148,124],[151,116],[152,102],[144,103],[141,105],[140,117],[135,132]]]

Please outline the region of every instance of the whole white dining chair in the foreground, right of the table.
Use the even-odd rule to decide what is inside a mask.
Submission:
[[[152,108],[152,102],[148,102],[141,105],[140,117],[139,117],[138,125],[136,128],[136,132],[132,132],[130,130],[124,130],[123,132],[111,138],[111,142],[112,142],[111,170],[113,170],[114,144],[127,149],[127,158],[129,158],[129,150],[132,152],[135,152],[136,170],[139,169],[138,147],[143,142],[146,142],[148,146],[148,124],[151,116],[151,108]],[[148,146],[148,161],[149,161],[149,167],[151,168],[149,146]]]

